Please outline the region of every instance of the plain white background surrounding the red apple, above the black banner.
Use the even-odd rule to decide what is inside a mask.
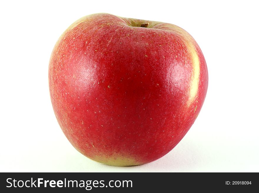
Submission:
[[[0,172],[259,172],[256,1],[1,1]],[[106,12],[176,24],[200,45],[209,87],[200,115],[161,159],[99,164],[77,152],[52,110],[50,54],[77,19]]]

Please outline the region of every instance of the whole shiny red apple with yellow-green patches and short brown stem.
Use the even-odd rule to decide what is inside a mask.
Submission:
[[[109,165],[142,165],[170,152],[197,118],[207,86],[204,56],[189,33],[111,14],[72,24],[49,63],[64,134],[83,155]]]

